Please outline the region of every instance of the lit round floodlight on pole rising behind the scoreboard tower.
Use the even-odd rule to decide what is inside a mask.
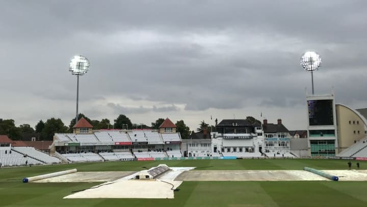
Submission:
[[[305,71],[311,71],[312,95],[313,93],[313,71],[321,66],[321,57],[317,52],[308,51],[303,53],[300,60],[301,66]]]

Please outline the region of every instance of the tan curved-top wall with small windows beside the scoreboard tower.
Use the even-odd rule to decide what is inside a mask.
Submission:
[[[355,110],[344,105],[336,104],[336,117],[340,153],[366,136],[366,126]]]

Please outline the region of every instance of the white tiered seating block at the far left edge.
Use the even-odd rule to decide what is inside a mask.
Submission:
[[[7,154],[5,154],[5,151]],[[35,160],[31,157],[24,157],[24,155],[17,153],[15,151],[11,150],[0,150],[0,163],[2,166],[20,166],[25,165],[27,162],[27,165],[38,165],[38,164],[44,164],[38,160]]]

